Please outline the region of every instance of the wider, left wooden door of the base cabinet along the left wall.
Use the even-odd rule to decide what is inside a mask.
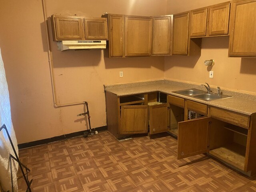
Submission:
[[[148,132],[149,106],[124,105],[121,107],[120,134]]]

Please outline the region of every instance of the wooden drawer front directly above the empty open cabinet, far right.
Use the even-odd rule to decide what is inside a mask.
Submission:
[[[231,122],[233,124],[242,126],[247,129],[249,127],[250,116],[247,116],[247,115],[238,114],[236,112],[231,112],[224,109],[211,107],[210,116],[216,117],[226,122]]]

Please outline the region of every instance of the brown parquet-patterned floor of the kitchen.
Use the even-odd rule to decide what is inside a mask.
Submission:
[[[33,192],[256,192],[255,178],[204,155],[176,154],[169,135],[118,141],[108,131],[19,150]],[[26,191],[22,178],[18,188]]]

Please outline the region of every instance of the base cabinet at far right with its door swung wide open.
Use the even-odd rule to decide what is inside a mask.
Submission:
[[[210,117],[179,122],[178,159],[208,153],[248,176],[255,175],[255,125],[245,119],[245,115],[212,107]]]

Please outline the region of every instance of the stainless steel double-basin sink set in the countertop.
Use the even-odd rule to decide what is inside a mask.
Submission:
[[[186,89],[186,90],[173,91],[173,92],[177,94],[191,96],[197,99],[202,99],[204,101],[212,101],[216,99],[224,99],[224,98],[232,97],[232,96],[222,95],[222,94],[218,95],[216,93],[207,93],[198,89]]]

